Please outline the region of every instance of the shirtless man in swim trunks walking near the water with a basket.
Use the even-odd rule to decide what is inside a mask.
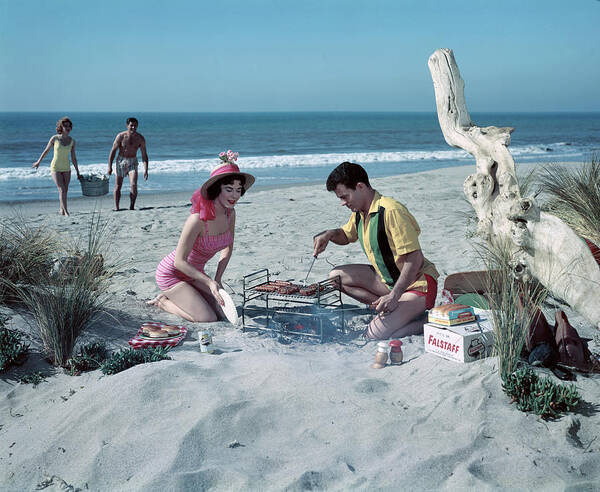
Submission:
[[[115,211],[119,210],[121,200],[121,186],[125,176],[129,176],[129,210],[135,210],[137,198],[138,160],[137,151],[141,149],[144,162],[144,179],[148,179],[148,154],[146,153],[146,140],[137,132],[138,121],[135,118],[127,118],[127,130],[121,132],[115,138],[110,155],[108,156],[108,174],[112,174],[112,162],[117,150],[116,176],[115,176]]]

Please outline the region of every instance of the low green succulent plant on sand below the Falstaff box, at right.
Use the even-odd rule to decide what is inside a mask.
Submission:
[[[502,388],[519,410],[533,412],[544,419],[560,417],[581,401],[574,384],[556,384],[547,377],[539,377],[531,368],[509,374]]]

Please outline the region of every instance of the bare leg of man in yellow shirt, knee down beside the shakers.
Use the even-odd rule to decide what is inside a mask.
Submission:
[[[376,340],[420,335],[423,333],[423,321],[419,318],[424,312],[425,296],[405,292],[400,296],[396,309],[373,318],[365,335]]]

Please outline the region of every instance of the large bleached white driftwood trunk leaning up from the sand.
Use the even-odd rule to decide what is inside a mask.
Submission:
[[[510,240],[516,276],[536,278],[600,328],[600,268],[564,222],[541,211],[533,198],[520,196],[507,148],[513,128],[471,122],[452,50],[436,50],[429,70],[446,142],[475,157],[476,173],[465,180],[464,192],[477,213],[478,233],[489,242]]]

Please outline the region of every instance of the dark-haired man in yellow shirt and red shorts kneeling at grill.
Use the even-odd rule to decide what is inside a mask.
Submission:
[[[387,339],[423,332],[422,315],[433,307],[439,274],[421,252],[419,225],[407,208],[371,188],[367,172],[358,164],[343,162],[327,178],[327,191],[335,192],[352,210],[350,220],[338,229],[314,237],[314,256],[331,241],[346,245],[360,241],[370,265],[334,268],[342,292],[369,304],[379,313],[365,335]]]

